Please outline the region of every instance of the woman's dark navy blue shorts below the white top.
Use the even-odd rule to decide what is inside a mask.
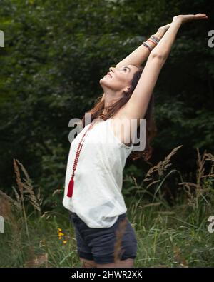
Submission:
[[[69,213],[73,223],[78,256],[96,263],[114,263],[127,258],[136,258],[136,233],[126,213],[110,228],[90,228],[76,213]]]

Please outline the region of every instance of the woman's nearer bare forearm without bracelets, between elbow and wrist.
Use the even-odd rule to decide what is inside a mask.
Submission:
[[[165,32],[158,45],[151,51],[151,54],[156,54],[163,59],[167,59],[181,24],[182,22],[179,19],[173,20],[170,28]]]

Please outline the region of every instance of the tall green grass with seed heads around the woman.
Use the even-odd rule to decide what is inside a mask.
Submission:
[[[128,219],[138,240],[136,268],[214,266],[214,233],[208,232],[208,218],[214,215],[214,156],[206,152],[200,156],[197,150],[195,183],[183,181],[179,171],[169,170],[170,160],[179,148],[152,166],[141,183],[133,177],[131,201],[125,198],[129,200]],[[42,211],[40,191],[34,191],[18,160],[14,160],[14,171],[15,199],[0,191],[0,215],[5,220],[5,233],[0,234],[0,266],[81,267],[67,211],[63,207],[60,212]],[[163,186],[173,176],[180,179],[181,193],[172,205],[166,201]],[[57,190],[53,196],[58,193],[63,191]],[[118,233],[115,258],[122,233],[123,226]]]

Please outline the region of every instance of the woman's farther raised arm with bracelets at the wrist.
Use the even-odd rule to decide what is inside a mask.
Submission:
[[[169,26],[170,24],[166,25],[165,28],[158,29],[158,31],[156,32],[156,34],[154,34],[154,36],[158,37],[158,39],[161,39]],[[148,43],[151,46],[150,41],[146,41],[146,43]],[[141,44],[141,46],[138,46],[138,48],[135,49],[130,55],[128,55],[125,59],[120,61],[116,65],[116,67],[125,66],[129,64],[135,64],[141,66],[141,64],[143,64],[143,61],[145,61],[148,58],[149,54],[150,51],[148,50],[148,48],[146,48],[146,46]]]

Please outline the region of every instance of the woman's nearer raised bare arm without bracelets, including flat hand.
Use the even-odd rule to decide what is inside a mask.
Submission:
[[[140,119],[143,119],[146,114],[153,88],[156,85],[163,64],[165,64],[165,60],[168,58],[178,29],[181,24],[186,21],[207,19],[207,16],[204,15],[205,14],[179,15],[173,17],[173,22],[170,24],[168,31],[165,32],[161,41],[148,56],[141,78],[139,79],[131,98],[124,106],[123,111],[121,111],[121,117],[125,116],[128,119],[137,119],[139,125]]]

